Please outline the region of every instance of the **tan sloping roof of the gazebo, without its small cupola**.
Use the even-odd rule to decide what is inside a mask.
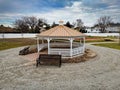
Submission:
[[[76,37],[76,36],[79,37],[85,35],[81,32],[78,32],[77,30],[68,28],[64,25],[59,25],[47,31],[41,32],[37,36],[38,37]]]

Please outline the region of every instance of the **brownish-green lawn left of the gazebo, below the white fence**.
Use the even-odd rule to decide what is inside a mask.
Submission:
[[[0,50],[26,46],[26,45],[33,45],[33,44],[36,44],[35,39],[27,39],[27,38],[0,39]]]

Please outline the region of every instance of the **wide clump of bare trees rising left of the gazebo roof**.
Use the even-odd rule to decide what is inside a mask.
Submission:
[[[37,32],[39,33],[43,26],[46,25],[46,28],[49,27],[47,20],[37,19],[34,16],[24,16],[21,19],[17,19],[14,23],[15,28],[20,32]]]

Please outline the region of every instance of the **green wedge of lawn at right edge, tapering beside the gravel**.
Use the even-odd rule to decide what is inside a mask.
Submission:
[[[93,45],[120,50],[120,45],[118,43],[101,43],[101,44],[93,44]]]

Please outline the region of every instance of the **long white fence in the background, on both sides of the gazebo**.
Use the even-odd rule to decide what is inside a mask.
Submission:
[[[36,37],[37,33],[0,33],[0,38],[33,38]],[[119,36],[119,33],[85,33],[88,36]]]

